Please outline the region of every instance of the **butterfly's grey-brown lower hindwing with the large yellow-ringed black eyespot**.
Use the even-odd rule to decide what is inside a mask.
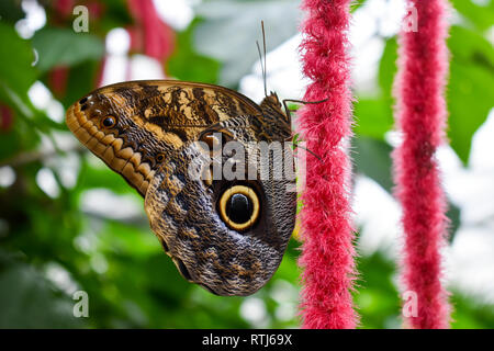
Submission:
[[[169,155],[145,197],[151,229],[181,274],[217,295],[245,296],[262,287],[278,269],[295,224],[295,179],[283,172],[274,177],[293,162],[291,149],[267,160],[265,177],[260,169],[248,174],[262,157],[252,144],[267,133],[252,121],[237,116],[212,127],[232,138],[235,170],[242,168],[245,177],[229,177],[223,167],[212,181],[201,178],[215,162],[232,160],[225,151],[229,146],[211,158],[192,143]]]

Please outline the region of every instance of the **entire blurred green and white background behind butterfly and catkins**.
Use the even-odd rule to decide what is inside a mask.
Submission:
[[[451,218],[445,283],[453,328],[494,328],[494,1],[450,2],[449,145],[438,152]],[[355,1],[352,12],[355,301],[361,328],[401,328],[390,151],[405,4]],[[1,328],[299,327],[296,234],[266,287],[214,296],[179,275],[143,200],[64,123],[83,94],[133,79],[217,83],[259,102],[261,20],[268,89],[301,99],[300,1],[0,1]],[[76,291],[88,293],[88,318],[72,315]]]

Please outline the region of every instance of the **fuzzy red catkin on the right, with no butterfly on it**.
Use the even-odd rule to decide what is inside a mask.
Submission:
[[[417,296],[417,315],[408,316],[406,324],[413,328],[447,328],[450,308],[440,282],[439,252],[447,235],[447,205],[435,158],[447,120],[447,2],[414,0],[409,5],[415,7],[411,13],[415,12],[418,22],[416,32],[403,31],[400,35],[394,92],[403,141],[393,152],[395,194],[402,203],[405,234],[402,280],[404,288]]]

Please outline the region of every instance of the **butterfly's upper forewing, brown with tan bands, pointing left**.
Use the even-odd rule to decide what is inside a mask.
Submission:
[[[166,155],[212,124],[261,115],[236,91],[204,83],[146,80],[94,90],[67,111],[69,129],[143,196]]]

